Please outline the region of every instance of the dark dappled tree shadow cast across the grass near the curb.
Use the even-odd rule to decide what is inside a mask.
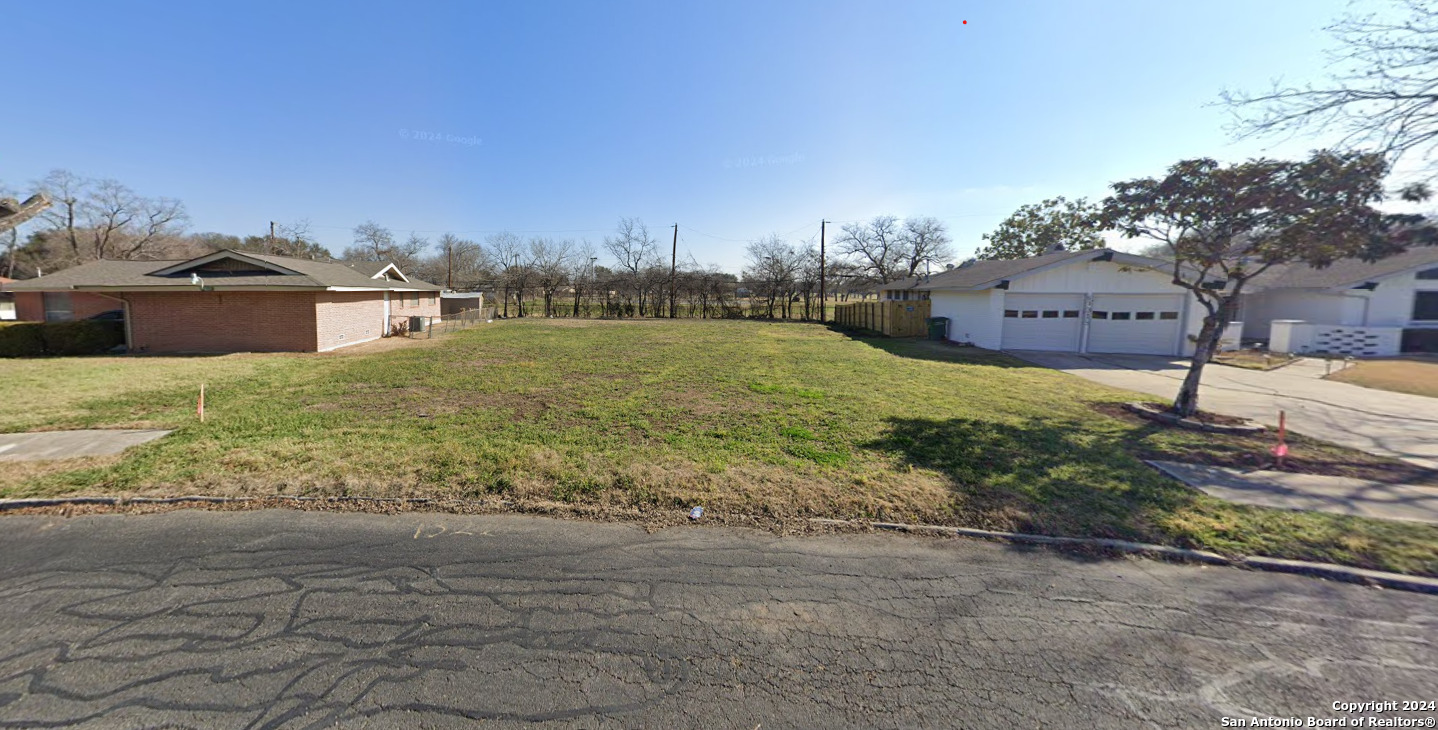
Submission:
[[[1195,494],[1130,456],[1119,433],[1038,418],[887,422],[881,437],[861,445],[946,476],[955,525],[1189,546],[1155,520]]]

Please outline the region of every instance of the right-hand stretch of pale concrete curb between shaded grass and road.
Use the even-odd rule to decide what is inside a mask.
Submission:
[[[1051,545],[1067,548],[1104,548],[1132,555],[1153,555],[1191,560],[1206,565],[1227,565],[1232,568],[1247,568],[1251,570],[1270,570],[1278,573],[1297,573],[1313,578],[1327,578],[1330,581],[1345,581],[1349,583],[1378,585],[1398,591],[1412,591],[1416,593],[1438,595],[1438,578],[1422,578],[1416,575],[1389,573],[1383,570],[1369,570],[1366,568],[1349,568],[1334,563],[1311,563],[1306,560],[1284,560],[1280,558],[1228,558],[1208,550],[1189,550],[1169,545],[1152,545],[1129,540],[1114,540],[1107,537],[1054,537],[1050,535],[1030,535],[1022,532],[979,530],[975,527],[946,527],[942,525],[905,525],[896,522],[856,522],[830,520],[814,517],[810,522],[820,525],[850,525],[867,526],[876,530],[894,530],[907,533],[936,533],[961,537],[976,537],[981,540],[1011,542],[1018,545]]]

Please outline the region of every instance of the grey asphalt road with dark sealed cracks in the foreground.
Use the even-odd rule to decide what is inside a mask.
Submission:
[[[0,616],[0,727],[1168,729],[1438,698],[1432,596],[896,535],[10,516]]]

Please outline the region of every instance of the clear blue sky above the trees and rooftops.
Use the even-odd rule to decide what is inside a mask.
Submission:
[[[963,254],[1044,197],[1316,147],[1235,144],[1209,105],[1317,78],[1346,7],[16,1],[0,181],[112,177],[194,230],[309,218],[334,251],[367,218],[598,244],[637,216],[736,269],[746,240],[894,214]]]

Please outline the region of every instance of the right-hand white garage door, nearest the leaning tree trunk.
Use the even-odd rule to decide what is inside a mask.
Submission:
[[[1089,352],[1173,355],[1182,312],[1182,295],[1094,295]]]

